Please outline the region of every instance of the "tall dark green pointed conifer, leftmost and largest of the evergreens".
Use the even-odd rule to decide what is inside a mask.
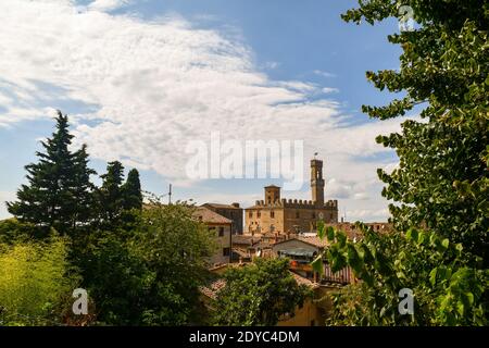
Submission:
[[[54,227],[62,234],[90,220],[92,186],[87,167],[86,147],[72,152],[73,135],[68,120],[60,111],[57,130],[41,145],[46,152],[37,152],[38,163],[26,165],[28,185],[17,191],[17,201],[8,202],[9,212],[22,222]]]

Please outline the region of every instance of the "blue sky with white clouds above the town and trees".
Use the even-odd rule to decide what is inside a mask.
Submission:
[[[189,141],[302,140],[304,185],[284,198],[311,199],[309,161],[324,161],[326,200],[347,221],[385,221],[376,169],[398,158],[375,142],[402,120],[369,120],[362,104],[392,95],[366,71],[399,69],[387,42],[398,23],[346,23],[350,0],[2,0],[0,2],[0,219],[26,183],[54,110],[70,115],[74,149],[88,145],[103,174],[120,160],[156,195],[174,200],[263,199],[283,178],[189,178]],[[99,182],[93,177],[95,182]]]

